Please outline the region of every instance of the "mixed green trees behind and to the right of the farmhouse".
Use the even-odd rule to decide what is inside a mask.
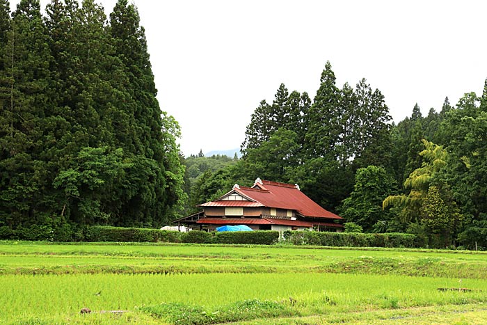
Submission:
[[[330,63],[314,99],[281,84],[250,118],[242,159],[193,184],[200,202],[255,177],[298,183],[317,203],[365,232],[410,232],[431,246],[487,247],[487,83],[448,98],[439,113],[395,125],[365,79],[336,85]],[[359,227],[359,228],[360,228]]]

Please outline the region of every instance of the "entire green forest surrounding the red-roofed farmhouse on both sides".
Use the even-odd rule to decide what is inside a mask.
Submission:
[[[0,0],[0,238],[159,227],[261,177],[299,184],[348,229],[487,248],[487,83],[397,124],[365,78],[337,85],[327,62],[317,84],[255,103],[241,159],[185,158],[133,4],[107,17],[94,0],[44,14]]]

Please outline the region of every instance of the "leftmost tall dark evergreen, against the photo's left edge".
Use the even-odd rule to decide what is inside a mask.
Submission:
[[[22,0],[11,21],[0,70],[0,223],[52,223],[43,157],[45,116],[52,106],[47,35],[39,1]],[[8,98],[9,100],[5,100]]]

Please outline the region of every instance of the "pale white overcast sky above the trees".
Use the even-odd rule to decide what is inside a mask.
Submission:
[[[12,4],[17,1],[11,1]],[[115,0],[102,0],[110,13]],[[45,7],[47,1],[41,1]],[[134,0],[161,109],[184,154],[238,148],[281,83],[314,98],[326,61],[337,86],[365,77],[394,122],[481,95],[487,1]]]

